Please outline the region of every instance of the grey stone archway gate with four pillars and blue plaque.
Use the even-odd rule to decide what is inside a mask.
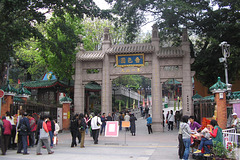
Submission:
[[[152,42],[144,44],[112,45],[109,29],[105,28],[102,50],[85,51],[79,44],[75,63],[75,113],[84,112],[84,85],[91,81],[102,87],[102,113],[112,112],[112,80],[126,74],[151,79],[153,129],[162,128],[162,83],[169,78],[182,82],[183,114],[192,115],[192,76],[190,43],[184,29],[180,47],[160,47],[158,30],[153,26]],[[95,72],[91,72],[93,70]],[[97,71],[97,72],[96,72]]]

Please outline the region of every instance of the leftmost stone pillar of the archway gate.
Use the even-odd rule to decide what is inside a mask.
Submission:
[[[83,69],[82,62],[79,60],[79,56],[84,53],[83,45],[78,44],[78,53],[76,55],[75,62],[75,84],[74,84],[74,113],[84,113],[84,96],[85,96],[85,88],[83,84]]]

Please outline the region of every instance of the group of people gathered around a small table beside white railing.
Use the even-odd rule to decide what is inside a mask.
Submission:
[[[195,136],[194,136],[195,135]],[[211,120],[210,125],[203,128],[195,121],[194,116],[183,116],[179,128],[179,158],[187,160],[189,157],[190,146],[193,145],[194,138],[199,141],[197,150],[194,154],[203,154],[204,157],[210,157],[210,146],[223,143],[222,129],[218,126],[216,120]],[[191,140],[192,139],[192,140]],[[204,148],[204,151],[202,149]]]

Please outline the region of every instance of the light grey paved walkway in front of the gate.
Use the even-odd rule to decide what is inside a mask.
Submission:
[[[6,156],[0,155],[1,160],[177,160],[178,140],[177,130],[165,132],[155,132],[148,134],[146,120],[138,118],[136,122],[136,136],[129,132],[120,131],[119,137],[109,138],[100,136],[99,144],[94,145],[89,135],[85,138],[85,148],[79,145],[71,148],[71,134],[60,133],[59,144],[53,148],[55,152],[48,155],[42,149],[43,155],[36,155],[36,147],[29,148],[29,155],[16,154],[16,150],[8,150]]]

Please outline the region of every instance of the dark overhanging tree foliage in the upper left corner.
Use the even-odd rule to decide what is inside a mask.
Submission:
[[[46,21],[46,13],[63,17],[65,13],[83,18],[109,16],[92,0],[2,0],[0,1],[0,83],[3,80],[5,62],[14,57],[14,45],[27,38],[44,36],[35,27]]]

